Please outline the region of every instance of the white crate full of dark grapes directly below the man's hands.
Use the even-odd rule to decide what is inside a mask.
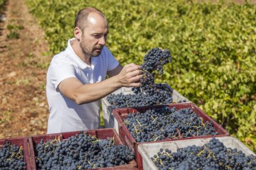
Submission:
[[[132,87],[122,87],[117,89],[112,94],[106,96],[101,100],[103,109],[103,119],[105,127],[117,129],[116,120],[113,116],[114,108],[126,108],[126,107],[142,107],[147,105],[160,105],[167,103],[190,103],[190,101],[179,94],[175,89],[170,87],[168,84],[161,83],[155,84],[156,88],[161,92],[160,94],[155,93],[155,100],[147,92],[142,95],[136,95],[132,91]],[[161,98],[160,98],[161,96]]]

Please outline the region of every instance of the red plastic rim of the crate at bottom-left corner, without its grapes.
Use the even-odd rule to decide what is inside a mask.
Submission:
[[[32,169],[32,164],[30,161],[30,152],[28,148],[28,139],[26,137],[17,137],[17,138],[7,138],[7,139],[0,139],[0,148],[2,148],[3,145],[6,144],[6,141],[9,140],[9,142],[12,145],[22,146],[23,153],[24,153],[24,161],[27,164],[27,169]]]

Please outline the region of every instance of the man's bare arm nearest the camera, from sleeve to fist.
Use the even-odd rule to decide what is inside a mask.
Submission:
[[[119,66],[116,71],[120,69]],[[121,66],[122,67],[122,66]],[[114,70],[115,70],[114,69]],[[74,100],[77,104],[90,103],[102,99],[120,87],[139,87],[138,81],[142,78],[140,66],[131,63],[124,66],[119,74],[110,73],[111,78],[99,83],[82,84],[77,78],[64,79],[59,84],[59,90],[67,98]]]

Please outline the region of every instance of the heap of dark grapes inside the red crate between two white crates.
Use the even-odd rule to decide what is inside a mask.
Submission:
[[[136,142],[218,134],[212,122],[203,123],[190,108],[150,108],[145,113],[129,113],[123,121]]]

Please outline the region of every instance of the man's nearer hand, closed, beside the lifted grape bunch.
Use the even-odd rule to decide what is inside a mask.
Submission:
[[[139,87],[140,79],[142,78],[142,70],[140,65],[130,63],[124,66],[117,75],[118,82],[122,87]]]

